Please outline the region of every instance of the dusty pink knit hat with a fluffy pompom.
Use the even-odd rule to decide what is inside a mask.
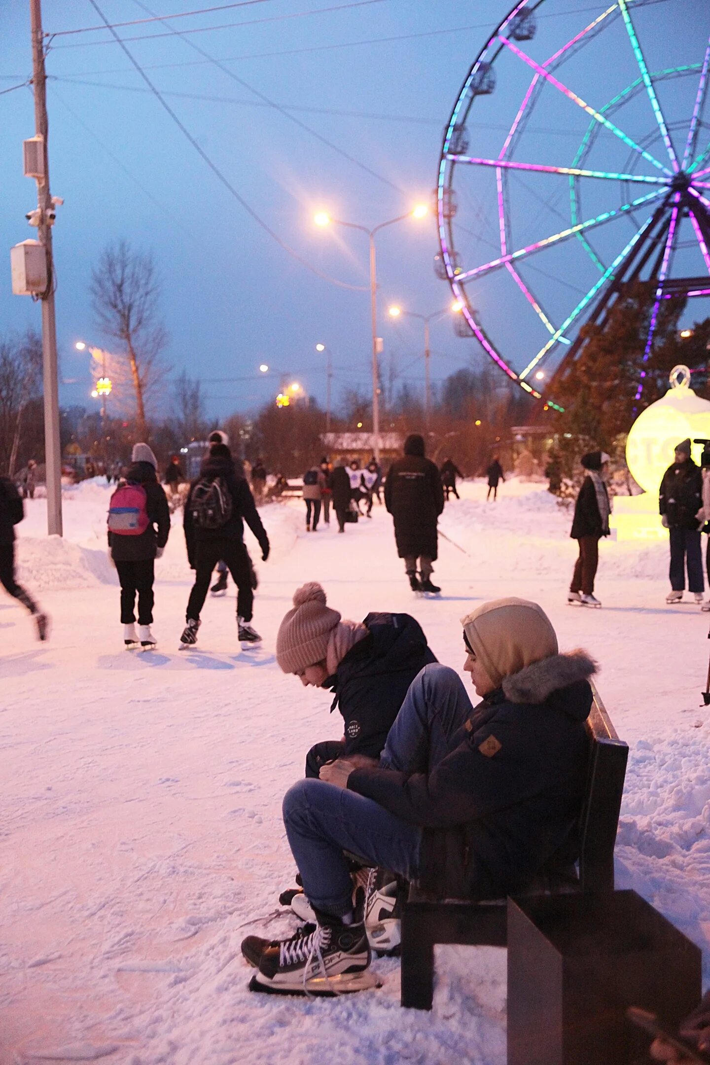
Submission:
[[[330,634],[341,620],[337,610],[326,606],[326,593],[316,581],[298,588],[294,608],[279,626],[276,660],[284,673],[297,673],[324,661]]]

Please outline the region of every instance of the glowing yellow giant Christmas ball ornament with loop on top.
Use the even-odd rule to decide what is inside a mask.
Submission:
[[[611,527],[617,540],[658,540],[667,536],[658,512],[658,490],[673,462],[676,444],[690,437],[710,439],[710,400],[696,396],[690,387],[688,366],[674,366],[671,388],[661,399],[646,407],[631,426],[626,442],[626,461],[643,495],[617,495]],[[701,444],[692,444],[699,465]]]

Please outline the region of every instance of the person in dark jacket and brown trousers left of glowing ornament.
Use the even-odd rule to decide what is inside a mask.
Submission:
[[[590,452],[582,455],[580,461],[587,476],[577,496],[569,534],[579,543],[579,557],[575,562],[567,603],[601,606],[594,595],[594,578],[599,562],[599,540],[609,536],[611,505],[605,481],[609,456],[605,452]]]

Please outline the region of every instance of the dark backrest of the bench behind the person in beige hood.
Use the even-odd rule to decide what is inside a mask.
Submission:
[[[613,891],[614,843],[629,749],[616,735],[594,685],[592,691],[594,702],[587,721],[590,761],[579,823],[579,886],[582,891]]]

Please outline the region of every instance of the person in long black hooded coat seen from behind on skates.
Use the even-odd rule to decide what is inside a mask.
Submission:
[[[390,466],[384,505],[394,519],[397,554],[404,559],[412,591],[441,591],[431,574],[439,557],[436,522],[444,509],[444,489],[435,462],[425,458],[418,433],[407,438],[404,457]]]

